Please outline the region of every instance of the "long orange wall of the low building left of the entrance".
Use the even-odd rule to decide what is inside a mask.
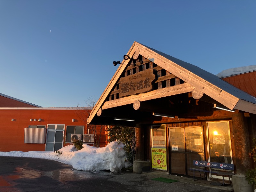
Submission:
[[[39,118],[42,119],[41,122],[38,122]],[[11,121],[12,119],[14,121]],[[72,122],[72,119],[75,119],[75,122]],[[28,125],[45,125],[47,128],[47,124],[65,124],[65,130],[68,125],[84,126],[84,134],[87,134],[86,124],[79,119],[76,110],[0,109],[0,151],[44,151],[45,144],[24,143],[24,128]],[[97,126],[97,130],[99,129],[100,125]],[[107,145],[106,140],[104,126],[100,147]]]

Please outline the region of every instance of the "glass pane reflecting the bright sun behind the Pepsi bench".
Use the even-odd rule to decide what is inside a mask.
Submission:
[[[206,123],[206,126],[208,132],[208,161],[232,164],[233,159],[230,143],[229,121],[208,122]],[[211,168],[211,170],[217,171],[217,169],[214,168]],[[218,169],[218,172],[221,171],[223,170]],[[210,176],[212,178],[222,178],[214,174]]]

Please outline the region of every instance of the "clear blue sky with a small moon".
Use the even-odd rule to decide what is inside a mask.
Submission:
[[[255,0],[0,0],[0,93],[85,106],[134,41],[215,75],[256,65],[255,10]]]

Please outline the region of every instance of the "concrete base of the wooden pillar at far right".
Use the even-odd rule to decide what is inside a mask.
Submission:
[[[253,192],[254,189],[251,184],[245,180],[244,175],[233,175],[232,176],[232,183],[234,192]]]

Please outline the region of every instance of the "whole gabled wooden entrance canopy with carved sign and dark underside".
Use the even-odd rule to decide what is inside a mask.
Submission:
[[[153,112],[173,115],[175,121],[218,116],[214,109],[211,114],[191,113],[191,99],[209,103],[210,107],[222,105],[256,114],[255,97],[201,68],[138,42],[132,44],[127,55],[131,59],[123,60],[124,64],[116,70],[92,109],[88,124],[118,125],[120,121],[115,121],[115,117],[134,120],[122,121],[126,126],[150,124],[161,118],[152,116]],[[152,87],[144,89],[148,82]]]

